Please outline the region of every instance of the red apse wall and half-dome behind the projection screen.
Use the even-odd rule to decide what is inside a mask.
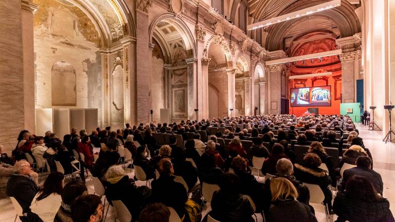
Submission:
[[[335,36],[330,32],[312,32],[303,35],[294,40],[294,44],[288,50],[291,51],[291,57],[298,55],[312,54],[324,51],[336,50]],[[311,73],[332,72],[332,75],[311,77],[311,78],[296,78],[290,79],[288,95],[290,98],[290,114],[302,115],[308,108],[318,108],[319,114],[330,115],[340,114],[340,99],[342,94],[342,64],[337,55],[330,57],[322,57],[319,59],[304,60],[293,62],[289,64],[289,76],[307,75]],[[320,103],[304,104],[306,106],[295,106],[292,103],[293,88],[310,88],[309,97],[311,97],[311,90],[318,86],[329,86],[330,88],[330,102],[321,106]],[[292,89],[292,90],[291,90]],[[294,91],[295,93],[295,91]],[[301,97],[302,98],[302,97]],[[306,100],[306,98],[304,98]],[[309,102],[312,102],[309,98]],[[313,106],[314,105],[314,106]],[[329,105],[329,106],[328,106]]]

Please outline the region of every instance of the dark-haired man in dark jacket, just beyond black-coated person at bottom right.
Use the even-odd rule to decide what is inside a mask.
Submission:
[[[356,159],[356,167],[345,170],[343,173],[342,187],[354,175],[363,176],[372,182],[374,189],[383,196],[383,180],[381,175],[372,170],[372,160],[367,156],[360,156]]]

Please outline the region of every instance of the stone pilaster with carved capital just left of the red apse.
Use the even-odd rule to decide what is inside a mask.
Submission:
[[[269,66],[270,73],[269,75],[269,82],[270,82],[270,104],[269,107],[269,114],[280,114],[281,108],[281,69],[282,64],[275,64]]]

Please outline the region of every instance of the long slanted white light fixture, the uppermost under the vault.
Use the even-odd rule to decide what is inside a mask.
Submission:
[[[331,8],[335,8],[341,5],[341,0],[333,0],[327,3],[322,3],[316,6],[312,6],[309,8],[305,8],[305,9],[301,9],[298,11],[294,11],[288,14],[284,14],[284,15],[280,15],[278,17],[274,17],[274,18],[270,18],[268,20],[264,20],[261,22],[257,22],[251,25],[247,26],[247,30],[254,30],[254,29],[258,29],[258,28],[263,28],[266,26],[270,26],[276,23],[280,23],[280,22],[284,22],[284,21],[289,21],[292,20],[294,18],[298,18],[298,17],[302,17],[302,16],[306,16],[306,15],[310,15],[316,12],[320,12],[320,11],[324,11],[324,10],[328,10]]]

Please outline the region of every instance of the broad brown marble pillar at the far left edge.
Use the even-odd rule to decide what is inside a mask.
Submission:
[[[0,24],[0,141],[11,154],[15,138],[25,128],[21,1],[0,1]],[[34,96],[28,99],[34,101]]]

